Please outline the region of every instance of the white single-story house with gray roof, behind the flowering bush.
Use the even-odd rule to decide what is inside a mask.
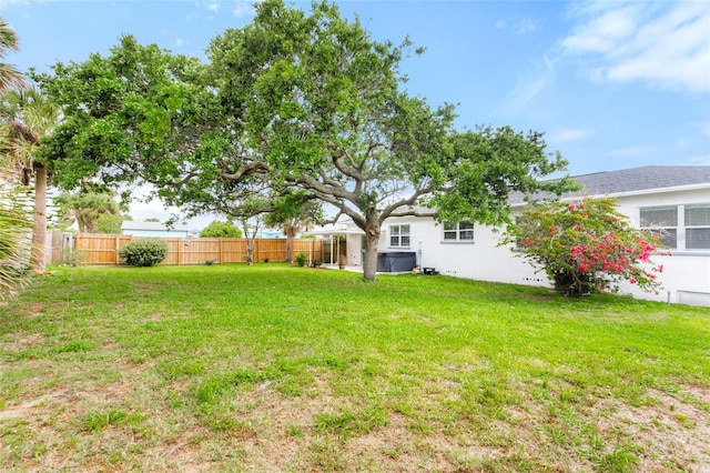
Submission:
[[[578,175],[585,190],[564,195],[611,197],[618,210],[639,228],[663,229],[671,255],[657,254],[663,264],[663,291],[645,293],[635,285],[621,292],[653,301],[710,306],[710,167],[659,167],[626,169]],[[523,195],[510,199],[514,215],[525,207]],[[346,222],[355,230],[353,222]],[[481,281],[550,286],[545,272],[536,270],[511,251],[499,246],[503,229],[469,222],[437,224],[432,218],[392,218],[382,229],[381,253],[408,253],[419,268],[440,274]],[[347,235],[349,264],[362,264],[363,238]],[[386,256],[386,255],[385,255]],[[412,261],[412,260],[408,260]]]

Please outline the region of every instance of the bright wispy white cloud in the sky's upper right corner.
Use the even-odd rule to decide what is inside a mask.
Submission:
[[[710,8],[703,1],[594,2],[561,41],[596,81],[648,81],[710,93]]]

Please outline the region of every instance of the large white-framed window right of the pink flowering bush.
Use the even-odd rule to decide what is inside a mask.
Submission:
[[[710,250],[710,203],[646,207],[642,229],[657,233],[673,250]]]

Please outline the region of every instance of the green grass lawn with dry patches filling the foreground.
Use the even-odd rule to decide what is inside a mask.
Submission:
[[[710,311],[283,264],[0,305],[2,471],[709,471]]]

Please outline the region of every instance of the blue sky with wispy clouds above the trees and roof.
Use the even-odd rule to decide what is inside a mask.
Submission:
[[[457,103],[459,128],[546,132],[569,172],[710,165],[708,1],[339,1],[373,38],[427,48],[403,62],[407,89]],[[307,9],[310,2],[295,6]],[[0,0],[21,50],[48,70],[106,53],[123,33],[204,57],[253,17],[241,1]]]

